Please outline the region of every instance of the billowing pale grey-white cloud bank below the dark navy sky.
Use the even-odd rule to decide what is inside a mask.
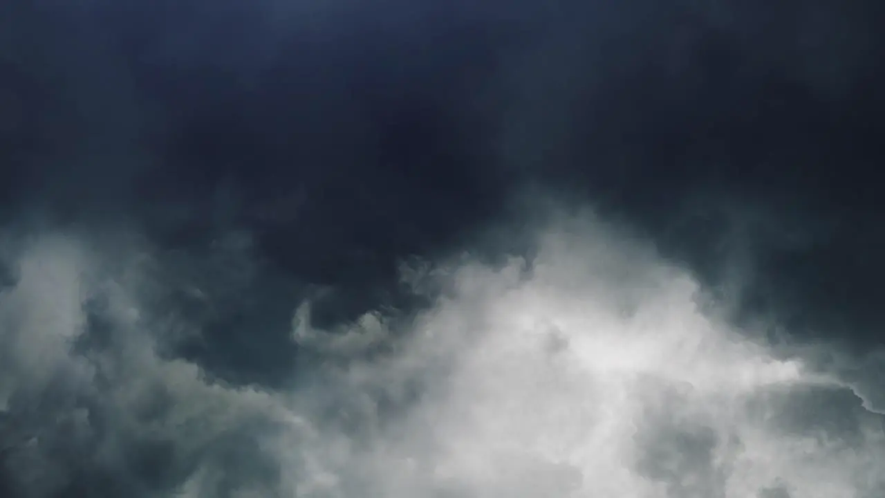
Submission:
[[[881,495],[869,373],[881,354],[784,354],[701,306],[694,276],[638,237],[587,213],[554,220],[533,230],[531,258],[404,270],[413,292],[435,289],[417,313],[319,330],[311,303],[293,302],[291,340],[312,361],[276,388],[173,354],[163,329],[175,319],[151,316],[163,310],[145,289],[161,283],[138,263],[143,246],[30,237],[0,301],[4,486],[35,497]]]

